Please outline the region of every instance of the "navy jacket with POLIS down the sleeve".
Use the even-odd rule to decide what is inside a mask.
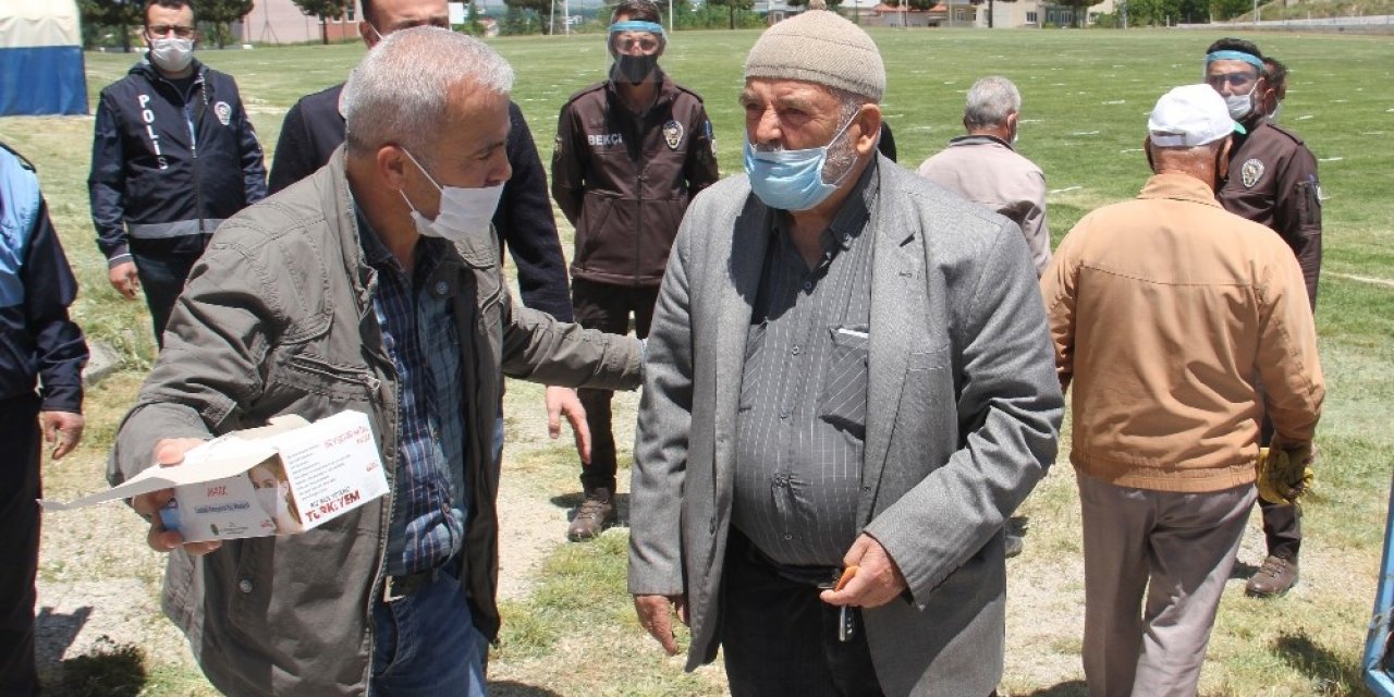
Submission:
[[[181,92],[142,60],[102,91],[88,191],[112,265],[127,261],[127,233],[202,244],[191,236],[266,197],[261,144],[237,84],[198,61],[194,75]]]

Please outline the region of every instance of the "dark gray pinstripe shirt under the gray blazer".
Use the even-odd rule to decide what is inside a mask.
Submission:
[[[875,160],[809,268],[772,219],[746,336],[732,523],[776,563],[842,566],[866,439]]]

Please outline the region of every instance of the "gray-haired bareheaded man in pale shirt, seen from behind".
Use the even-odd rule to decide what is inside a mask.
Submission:
[[[1020,114],[1022,93],[1011,79],[990,75],[973,82],[963,106],[967,135],[924,160],[920,176],[1019,224],[1040,276],[1050,265],[1046,174],[1012,146]]]

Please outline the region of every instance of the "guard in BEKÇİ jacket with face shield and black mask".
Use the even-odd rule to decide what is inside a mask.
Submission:
[[[687,202],[718,178],[717,142],[701,96],[658,67],[668,46],[651,0],[620,0],[606,33],[609,79],[562,107],[552,197],[576,227],[572,305],[581,326],[648,336],[658,282]],[[615,434],[609,390],[583,389],[591,459],[573,541],[615,523]]]

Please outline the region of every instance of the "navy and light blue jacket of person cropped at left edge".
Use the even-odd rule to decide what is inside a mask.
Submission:
[[[33,166],[0,144],[0,399],[33,395],[45,411],[82,413],[86,342],[68,319],[78,293]]]

